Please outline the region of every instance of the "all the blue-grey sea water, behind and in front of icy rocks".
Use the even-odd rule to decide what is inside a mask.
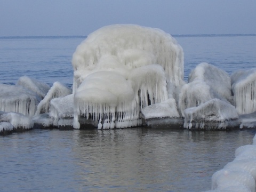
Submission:
[[[185,80],[201,62],[231,74],[256,67],[255,35],[174,36]],[[0,37],[0,83],[27,75],[73,82],[71,58],[85,37]],[[204,191],[255,131],[32,130],[0,137],[1,191]]]

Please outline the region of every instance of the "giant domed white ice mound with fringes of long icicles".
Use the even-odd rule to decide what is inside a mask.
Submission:
[[[81,115],[98,129],[140,125],[141,108],[165,101],[167,84],[184,84],[183,50],[159,29],[103,27],[77,47],[72,64],[75,128]]]

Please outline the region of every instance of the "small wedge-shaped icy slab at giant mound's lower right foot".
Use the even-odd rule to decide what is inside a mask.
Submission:
[[[141,114],[145,119],[163,118],[163,117],[180,117],[175,99],[167,99],[161,103],[155,103],[141,109]]]

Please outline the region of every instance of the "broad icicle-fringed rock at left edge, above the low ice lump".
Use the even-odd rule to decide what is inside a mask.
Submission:
[[[19,85],[0,84],[0,110],[33,116],[41,99],[38,95]]]

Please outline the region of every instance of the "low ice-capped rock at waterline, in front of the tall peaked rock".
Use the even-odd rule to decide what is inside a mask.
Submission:
[[[238,114],[234,106],[220,99],[212,99],[197,107],[187,108],[184,111],[184,127],[191,129],[203,129],[206,122],[217,122],[217,129],[225,129],[228,125],[226,121],[238,119]]]

